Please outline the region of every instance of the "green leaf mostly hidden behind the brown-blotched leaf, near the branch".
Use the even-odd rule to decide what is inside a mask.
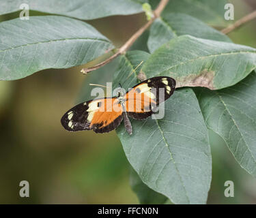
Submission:
[[[206,40],[231,42],[227,35],[209,27],[201,20],[186,14],[170,13],[165,18],[157,18],[150,27],[147,46],[150,52],[169,42],[173,37],[193,35]]]

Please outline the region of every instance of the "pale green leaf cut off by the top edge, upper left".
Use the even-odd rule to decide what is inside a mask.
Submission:
[[[1,3],[0,14],[16,12],[21,4],[27,3],[29,10],[91,20],[118,14],[137,14],[143,12],[142,4],[145,2],[147,0],[12,0]]]

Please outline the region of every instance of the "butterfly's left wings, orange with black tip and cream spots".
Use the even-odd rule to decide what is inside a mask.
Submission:
[[[61,118],[68,131],[93,129],[97,133],[109,132],[122,122],[122,107],[116,98],[95,99],[74,106]]]

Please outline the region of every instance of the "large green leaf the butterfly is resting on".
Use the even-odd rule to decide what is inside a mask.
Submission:
[[[127,89],[139,82],[139,67],[135,72],[134,69],[147,57],[148,54],[141,51],[127,52],[120,57],[115,84],[121,82]],[[128,75],[132,76],[127,79]],[[164,119],[131,120],[131,123],[132,136],[123,124],[117,129],[117,135],[143,183],[175,204],[205,203],[212,160],[208,130],[193,91],[175,91],[165,102]]]

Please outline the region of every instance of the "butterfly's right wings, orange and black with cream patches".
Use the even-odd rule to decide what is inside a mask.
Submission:
[[[133,119],[146,119],[153,109],[168,99],[175,91],[175,80],[157,76],[132,87],[126,93],[126,111]]]

